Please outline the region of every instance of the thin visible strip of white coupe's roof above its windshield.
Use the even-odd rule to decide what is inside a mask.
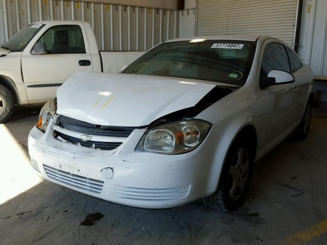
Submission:
[[[194,36],[194,37],[182,37],[171,39],[166,42],[175,42],[175,41],[190,41],[193,39],[206,39],[206,40],[242,40],[242,41],[256,41],[259,38],[273,38],[263,35],[209,35],[209,36]]]

